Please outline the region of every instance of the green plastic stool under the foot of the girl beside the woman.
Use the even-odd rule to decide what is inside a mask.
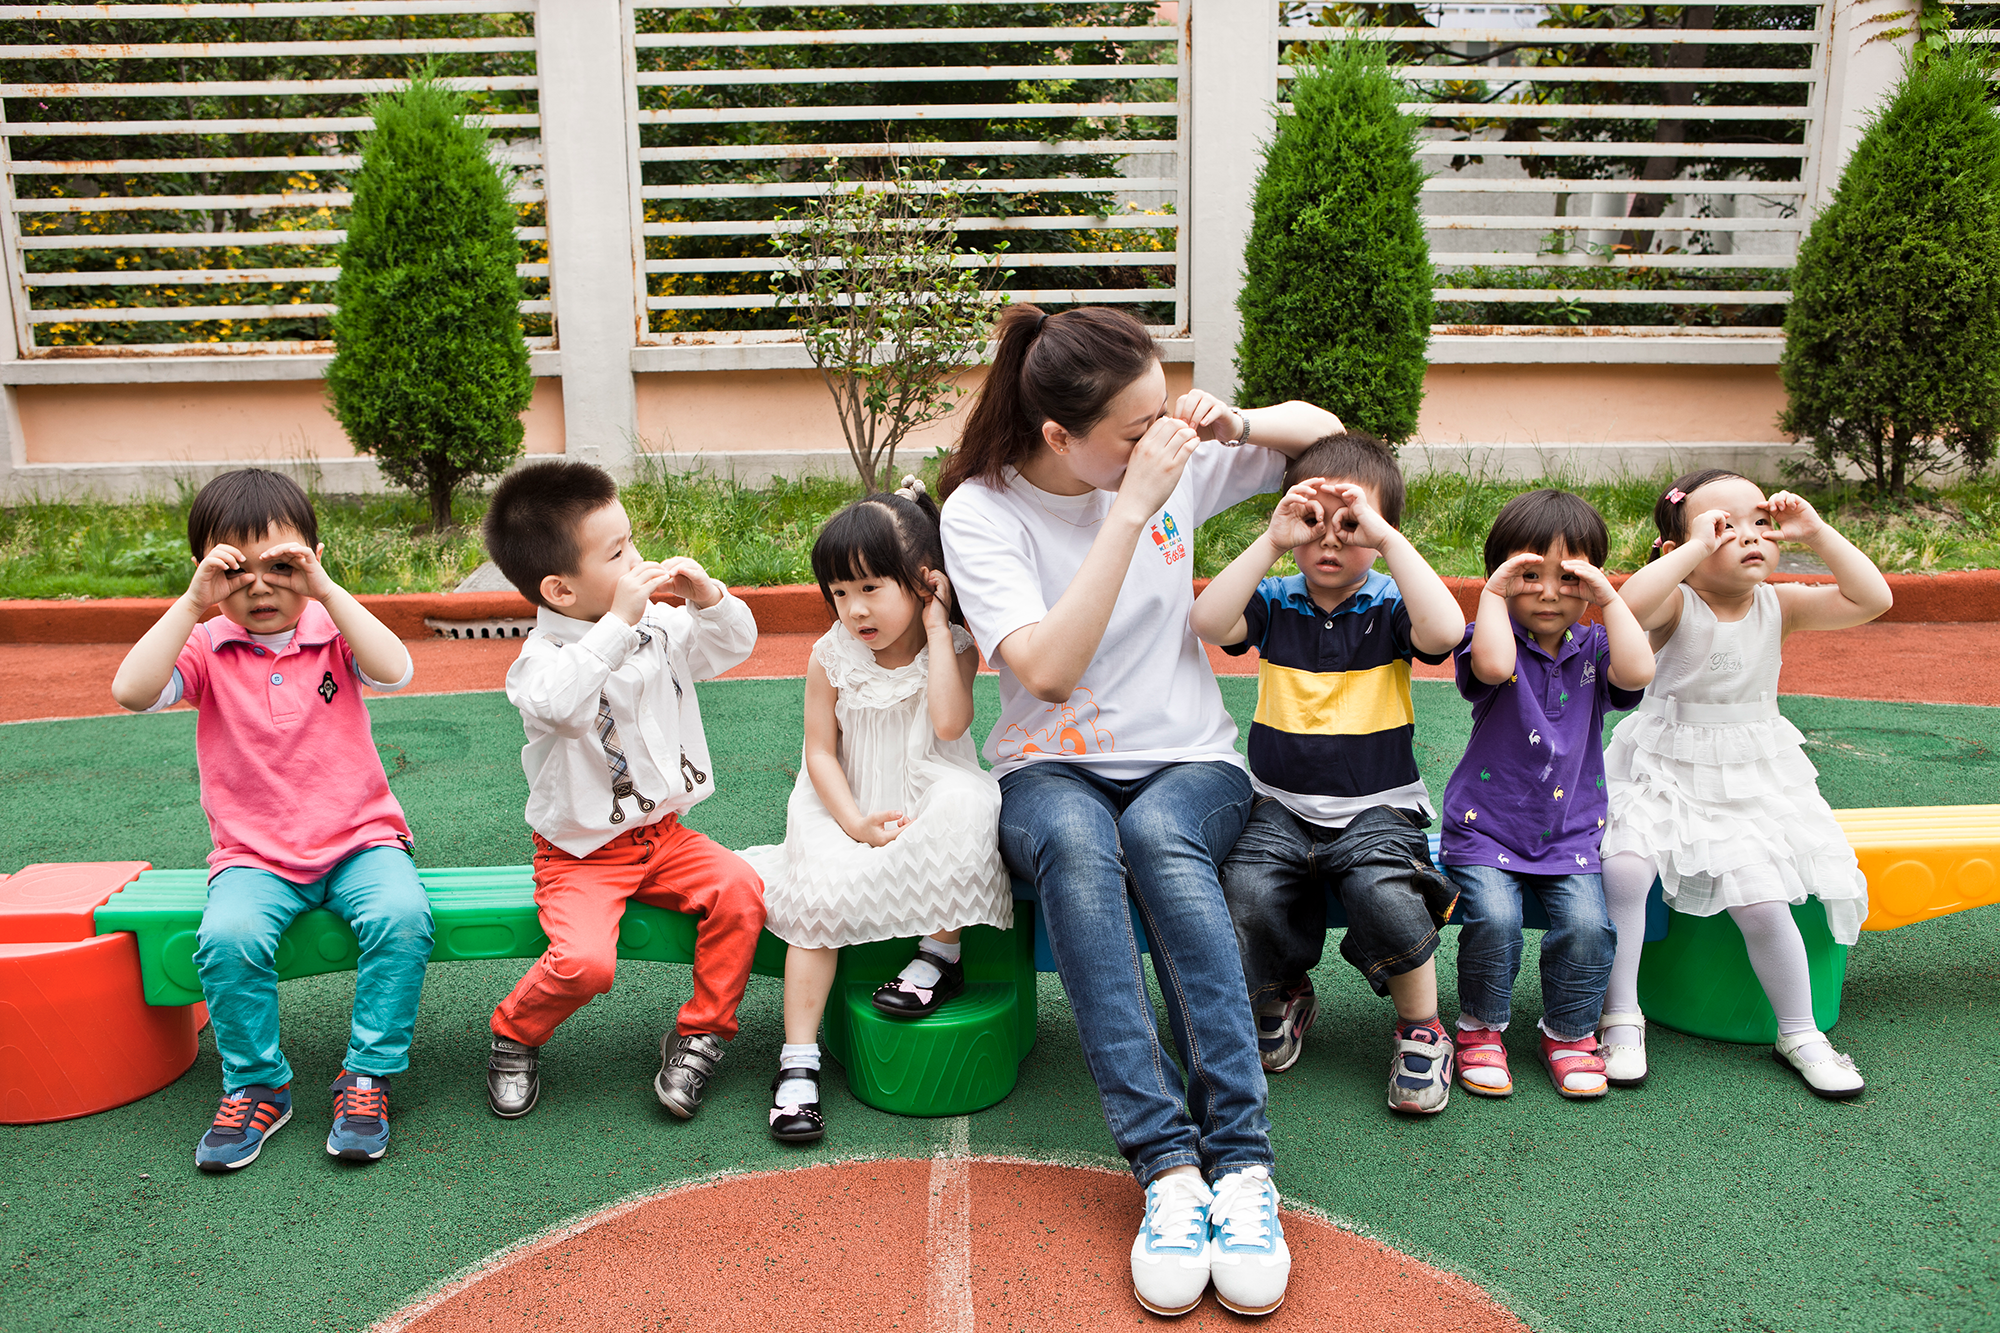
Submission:
[[[856,1101],[896,1115],[970,1115],[1014,1091],[1034,1047],[1034,903],[1014,903],[1014,929],[968,927],[966,993],[920,1021],[892,1019],[874,991],[902,971],[916,941],[840,951],[826,1007],[826,1053]]]

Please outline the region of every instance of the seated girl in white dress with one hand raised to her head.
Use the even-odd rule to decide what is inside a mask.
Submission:
[[[922,1019],[966,987],[958,935],[1010,929],[1000,785],[966,735],[980,654],[952,610],[938,506],[914,476],[834,514],[812,572],[836,624],[806,669],[806,763],[784,845],[742,853],[764,877],[784,959],[784,1049],[770,1133],[812,1143],[820,1017],[848,945],[920,935],[876,1009]]]

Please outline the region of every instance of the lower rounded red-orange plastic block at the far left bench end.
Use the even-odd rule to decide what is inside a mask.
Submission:
[[[128,933],[0,945],[0,1123],[96,1115],[194,1063],[198,1005],[154,1007]]]

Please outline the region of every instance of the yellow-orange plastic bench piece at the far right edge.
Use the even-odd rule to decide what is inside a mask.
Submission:
[[[2000,805],[1834,811],[1834,819],[1868,877],[1864,931],[2000,903]]]

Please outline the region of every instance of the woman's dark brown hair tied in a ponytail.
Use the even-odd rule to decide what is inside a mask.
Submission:
[[[1008,306],[994,340],[992,370],[938,474],[944,496],[968,480],[998,486],[1008,466],[1042,446],[1044,420],[1086,434],[1104,420],[1112,398],[1160,360],[1146,326],[1110,306],[1058,314]]]

